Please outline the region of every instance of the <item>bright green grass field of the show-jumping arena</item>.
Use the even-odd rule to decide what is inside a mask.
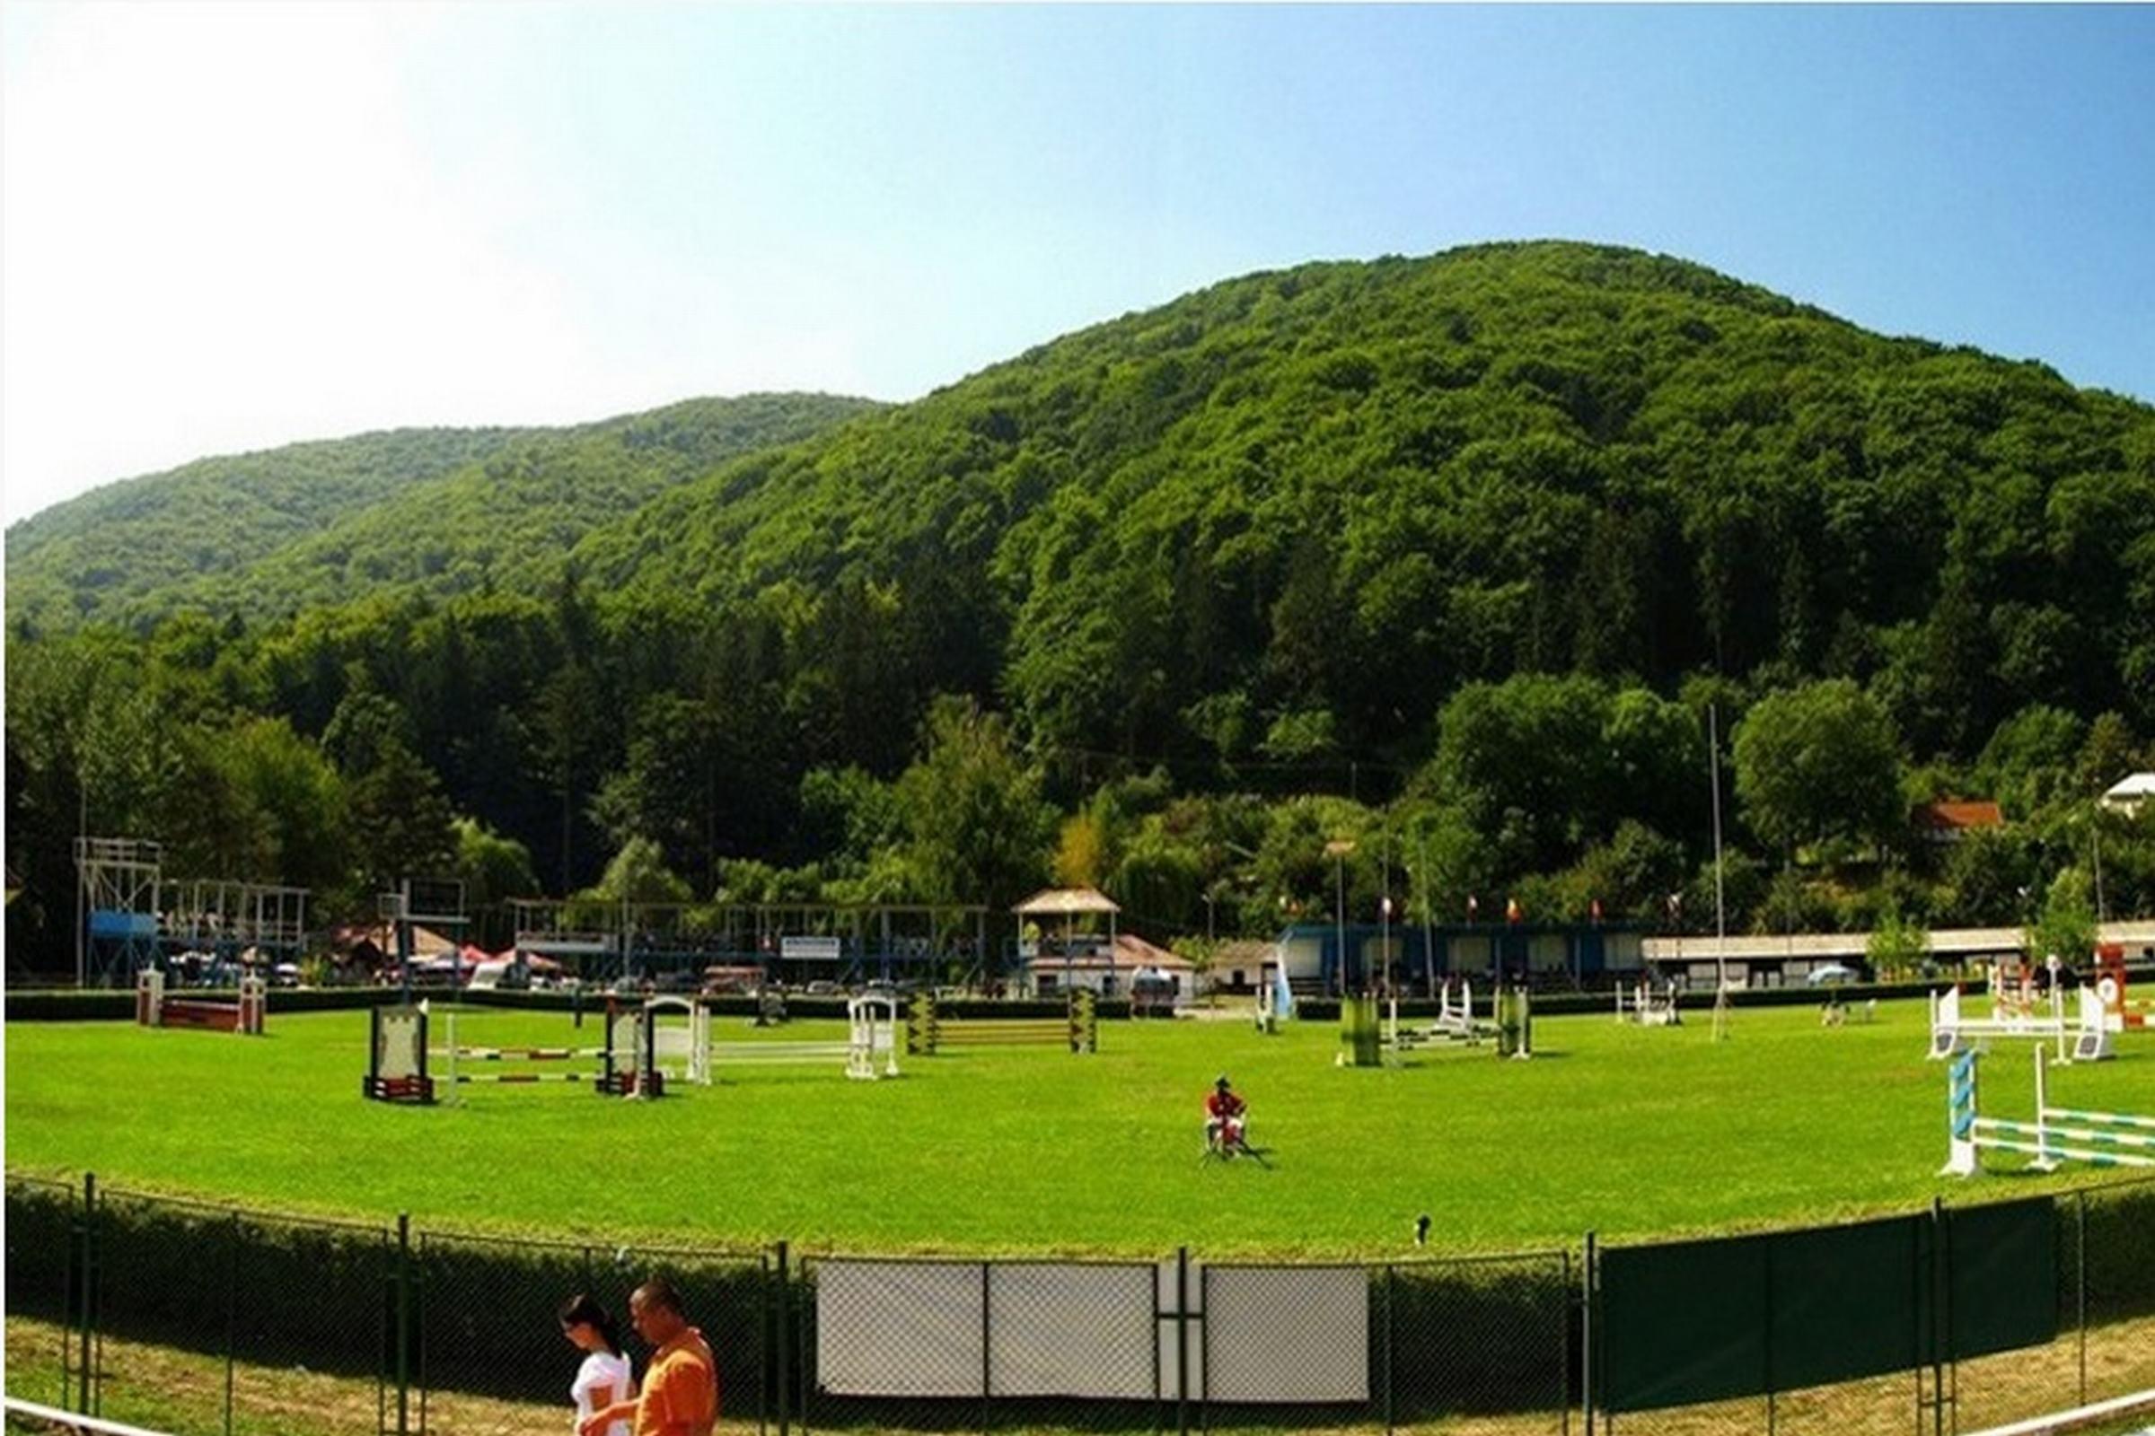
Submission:
[[[119,1023],[6,1027],[6,1165],[110,1186],[237,1197],[435,1227],[817,1249],[1207,1255],[1508,1249],[1810,1223],[1935,1193],[1944,1070],[1920,1003],[1821,1029],[1810,1008],[1739,1012],[1733,1040],[1608,1016],[1543,1018],[1532,1061],[1489,1048],[1336,1070],[1334,1025],[1106,1023],[1101,1053],[968,1048],[851,1083],[748,1068],[664,1102],[465,1087],[459,1107],[360,1098],[366,1014],[282,1016],[259,1040]],[[754,1040],[746,1018],[718,1025]],[[836,1038],[795,1023],[782,1038]],[[463,1042],[593,1042],[567,1016],[476,1012]],[[440,1036],[437,1036],[440,1040]],[[1200,1165],[1198,1100],[1231,1072],[1274,1169]],[[2032,1109],[2028,1046],[1985,1061],[1985,1113]],[[2155,1036],[2054,1072],[2067,1107],[2155,1111]],[[2067,1171],[2047,1184],[2093,1180]]]

